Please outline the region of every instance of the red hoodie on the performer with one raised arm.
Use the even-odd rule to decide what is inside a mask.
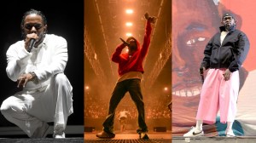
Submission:
[[[125,49],[125,45],[123,43],[119,44],[116,48],[115,52],[112,54],[111,60],[119,64],[119,76],[122,76],[127,72],[144,72],[143,60],[146,54],[148,54],[151,31],[151,24],[147,20],[142,49],[140,48],[140,43],[136,40],[137,51],[131,55],[131,59],[129,58],[128,53],[121,54],[122,50]]]

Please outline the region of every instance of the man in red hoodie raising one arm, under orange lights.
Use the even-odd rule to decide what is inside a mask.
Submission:
[[[96,134],[99,138],[114,138],[113,121],[115,109],[119,105],[120,100],[123,99],[126,92],[131,94],[131,99],[135,102],[138,112],[138,126],[137,133],[141,139],[148,139],[148,127],[145,123],[145,110],[143,103],[143,94],[141,89],[141,79],[143,79],[143,60],[148,53],[150,43],[150,36],[152,31],[151,23],[154,24],[155,17],[150,17],[148,13],[144,14],[147,20],[145,35],[143,39],[143,46],[134,37],[128,37],[126,42],[124,40],[115,52],[112,54],[112,61],[119,64],[119,79],[116,83],[109,102],[108,116],[103,123],[103,130]],[[128,53],[122,54],[122,50],[128,46]]]

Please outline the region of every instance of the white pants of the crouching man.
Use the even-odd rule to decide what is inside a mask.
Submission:
[[[73,113],[73,87],[63,73],[51,77],[43,91],[20,91],[3,101],[1,112],[29,137],[48,122],[54,129],[66,129],[67,117]]]

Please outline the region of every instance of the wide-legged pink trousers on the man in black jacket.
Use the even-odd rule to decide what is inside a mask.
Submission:
[[[239,92],[239,72],[232,72],[230,80],[224,80],[225,69],[209,69],[201,89],[197,120],[212,124],[216,122],[218,110],[220,122],[234,122],[236,100]]]

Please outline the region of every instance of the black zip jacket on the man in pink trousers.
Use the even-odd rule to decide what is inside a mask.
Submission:
[[[221,45],[220,33],[224,31],[224,26],[219,27],[219,29],[220,32],[216,33],[207,43],[201,67],[206,69],[229,68],[230,72],[235,72],[239,70],[247,57],[250,48],[249,40],[244,32],[236,30],[234,27]]]

